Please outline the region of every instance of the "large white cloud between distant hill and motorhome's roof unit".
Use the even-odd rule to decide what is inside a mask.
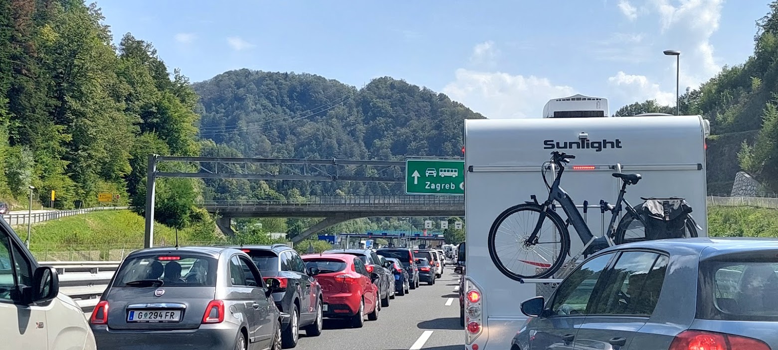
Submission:
[[[443,92],[492,119],[540,118],[549,99],[576,93],[569,86],[552,84],[548,78],[464,68],[457,69],[454,81]]]

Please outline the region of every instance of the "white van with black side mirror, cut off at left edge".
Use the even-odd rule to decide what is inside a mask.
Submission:
[[[57,271],[38,265],[5,220],[0,220],[0,319],[0,348],[96,349],[83,311],[59,293]]]

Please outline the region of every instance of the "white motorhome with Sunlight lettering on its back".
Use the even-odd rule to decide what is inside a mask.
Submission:
[[[683,197],[702,227],[698,235],[706,236],[705,138],[710,126],[701,116],[466,120],[464,128],[468,350],[509,348],[527,319],[520,303],[550,293],[552,282],[562,277],[558,272],[552,279],[517,282],[496,268],[488,248],[489,230],[503,210],[530,201],[531,195],[541,203],[548,197],[541,164],[552,151],[576,156],[561,185],[579,208],[584,200],[615,202],[621,180],[612,173],[639,173],[640,183],[627,188],[630,204],[643,203],[640,197]],[[557,212],[566,219],[562,210]],[[609,219],[610,212],[591,209],[586,217],[595,236],[605,233]],[[568,259],[584,247],[573,227],[569,234]]]

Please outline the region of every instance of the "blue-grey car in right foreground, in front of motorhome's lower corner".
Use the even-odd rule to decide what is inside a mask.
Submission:
[[[621,244],[536,296],[511,350],[778,349],[778,240]]]

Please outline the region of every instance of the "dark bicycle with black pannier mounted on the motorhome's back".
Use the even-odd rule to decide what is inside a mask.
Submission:
[[[538,199],[533,195],[531,202],[527,201],[506,209],[499,214],[489,230],[489,256],[503,275],[519,282],[524,282],[524,279],[544,279],[554,275],[565,263],[564,257],[570,253],[570,236],[567,229],[570,225],[573,226],[581,242],[584,243],[584,248],[571,260],[573,263],[581,255],[590,255],[615,244],[652,239],[645,237],[646,234],[643,234],[642,238],[627,237],[627,231],[633,227],[640,229],[640,227],[646,227],[647,224],[646,219],[624,198],[626,187],[640,182],[640,174],[612,173],[613,177],[622,180],[622,188],[615,205],[600,200],[601,212],[610,211],[612,217],[605,234],[601,237],[594,237],[586,220],[581,217],[581,213],[573,203],[573,199],[559,185],[562,181],[562,172],[565,171],[564,165],[569,163],[570,159],[575,159],[576,156],[559,151],[554,151],[551,154],[551,161],[543,163],[541,171],[543,182],[548,188],[548,199],[544,203],[538,203]],[[548,185],[546,171],[552,166],[556,170],[556,178],[552,185]],[[655,199],[643,198],[643,200]],[[672,200],[683,201],[679,198]],[[562,207],[567,220],[562,220],[562,217],[555,212],[555,203],[559,203],[559,206]],[[626,213],[616,225],[616,220],[619,220],[619,213],[622,209],[625,209]],[[586,210],[587,204],[584,204],[584,212]],[[519,217],[522,214],[538,214],[538,218]],[[683,234],[685,237],[697,237],[697,226],[694,220],[688,213],[684,213],[684,215],[685,217],[682,219],[684,219],[685,227],[681,228],[681,230],[685,230]],[[528,230],[524,231],[513,230],[514,227],[522,224],[531,225],[531,227],[525,227]],[[545,232],[546,228],[552,228],[551,234],[548,235],[550,238],[545,238],[545,240],[550,239],[550,241],[541,241],[541,233]],[[559,249],[555,250],[555,248]],[[534,258],[522,258],[520,256],[522,254],[534,255]],[[530,272],[516,271],[521,268],[530,269]]]

